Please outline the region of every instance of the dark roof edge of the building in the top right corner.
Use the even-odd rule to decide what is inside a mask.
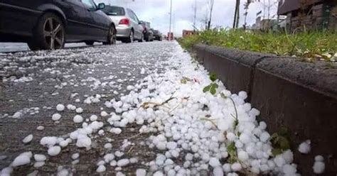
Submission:
[[[301,7],[300,1],[305,1],[306,6],[308,6],[311,4],[323,2],[324,0],[280,0],[277,14],[285,15],[290,11],[299,9]]]

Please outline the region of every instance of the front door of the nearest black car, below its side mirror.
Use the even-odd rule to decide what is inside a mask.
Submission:
[[[97,11],[97,6],[92,0],[82,0],[86,11],[87,40],[105,40],[109,30],[107,19],[102,11]]]

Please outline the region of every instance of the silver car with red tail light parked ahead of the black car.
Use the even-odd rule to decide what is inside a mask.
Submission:
[[[122,40],[123,43],[144,40],[144,28],[134,11],[122,6],[105,6],[102,11],[116,24],[117,40]]]

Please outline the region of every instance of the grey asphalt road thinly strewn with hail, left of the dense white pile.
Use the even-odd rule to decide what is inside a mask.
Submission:
[[[172,56],[173,46],[170,42],[153,42],[0,53],[0,170],[26,151],[48,156],[47,148],[40,145],[43,136],[63,136],[80,127],[73,122],[74,111],[63,112],[62,119],[54,122],[51,116],[57,113],[57,104],[73,104],[83,109],[85,119],[96,114],[99,121],[106,122],[100,116],[101,111],[110,113],[114,109],[107,109],[105,101],[118,100],[128,94],[128,85],[134,85],[151,72],[161,72],[169,64],[165,61]],[[83,103],[87,97],[97,94],[101,97],[99,102]],[[16,112],[20,112],[18,119],[13,116]],[[38,126],[45,128],[38,131]],[[105,143],[112,143],[112,151],[121,150],[124,138],[129,138],[132,145],[124,149],[123,157],[136,156],[139,162],[123,167],[123,172],[134,174],[136,168],[146,167],[142,163],[156,155],[141,145],[147,136],[135,136],[137,128],[127,126],[120,135],[97,134],[91,150],[70,144],[60,155],[48,157],[46,165],[35,168],[31,163],[17,167],[13,174],[27,175],[35,171],[52,175],[63,167],[75,175],[97,175],[95,163],[109,151],[103,147]],[[29,134],[33,134],[33,141],[24,144],[22,140]],[[80,153],[77,164],[72,164],[73,153]],[[105,175],[115,172],[114,167],[108,166]]]

